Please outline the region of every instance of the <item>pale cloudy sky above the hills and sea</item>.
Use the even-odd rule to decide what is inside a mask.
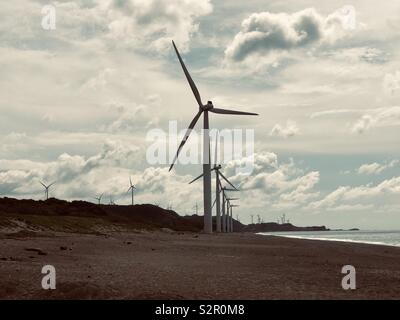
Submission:
[[[150,130],[196,112],[171,39],[203,100],[260,114],[211,115],[255,130],[252,174],[224,167],[243,222],[400,229],[396,0],[1,1],[0,196],[56,180],[52,196],[128,204],[131,175],[138,202],[193,213],[201,166],[146,159]]]

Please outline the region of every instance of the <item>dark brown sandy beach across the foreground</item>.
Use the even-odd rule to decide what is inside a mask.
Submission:
[[[2,299],[400,298],[395,247],[161,231],[1,238]],[[47,264],[56,290],[41,288]],[[353,291],[341,287],[348,264],[357,271]]]

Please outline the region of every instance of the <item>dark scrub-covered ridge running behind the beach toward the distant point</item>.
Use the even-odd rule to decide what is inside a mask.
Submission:
[[[71,220],[72,219],[72,220]],[[17,222],[16,222],[17,221]],[[19,221],[19,222],[18,222]],[[0,198],[0,227],[29,230],[54,230],[96,233],[99,229],[148,229],[201,232],[203,216],[181,216],[173,210],[151,204],[120,206],[94,204],[85,201],[64,201],[51,198],[47,201]],[[216,219],[213,218],[213,229]],[[298,232],[339,231],[326,226],[298,227],[291,223],[259,223],[245,225],[233,219],[234,232]],[[358,229],[351,229],[352,231]]]

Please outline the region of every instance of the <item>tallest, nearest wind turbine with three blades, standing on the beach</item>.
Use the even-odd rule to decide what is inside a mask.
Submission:
[[[195,127],[197,121],[204,113],[203,118],[203,201],[204,201],[204,232],[212,233],[212,212],[211,212],[211,165],[210,165],[210,135],[209,135],[209,120],[208,120],[208,113],[218,113],[218,114],[230,114],[230,115],[258,115],[256,113],[250,112],[241,112],[241,111],[233,111],[233,110],[225,110],[214,108],[212,101],[208,101],[207,104],[203,104],[201,100],[201,96],[199,90],[196,87],[192,77],[187,70],[185,63],[183,62],[181,55],[175,45],[175,42],[172,41],[172,45],[174,46],[176,55],[178,56],[179,62],[182,66],[183,72],[185,73],[186,79],[189,82],[189,86],[194,94],[194,97],[199,105],[199,111],[193,118],[192,122],[190,122],[189,127],[183,137],[182,142],[180,143],[178,150],[176,152],[175,158],[172,161],[172,164],[169,168],[171,171],[176,160],[178,159],[179,153],[182,150],[183,146],[185,145],[186,141],[189,138],[189,135],[193,128]]]

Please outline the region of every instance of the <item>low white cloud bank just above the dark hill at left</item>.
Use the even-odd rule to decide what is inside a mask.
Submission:
[[[100,153],[87,158],[64,153],[51,162],[0,160],[0,195],[42,198],[42,180],[56,181],[51,196],[60,199],[91,201],[104,193],[117,203],[129,203],[126,191],[131,176],[140,202],[164,206],[172,202],[185,212],[191,203],[201,199],[195,192],[197,187],[188,185],[191,176],[176,175],[168,168],[134,169],[138,168],[141,154],[135,146],[107,141]],[[193,201],[189,203],[190,199]]]

